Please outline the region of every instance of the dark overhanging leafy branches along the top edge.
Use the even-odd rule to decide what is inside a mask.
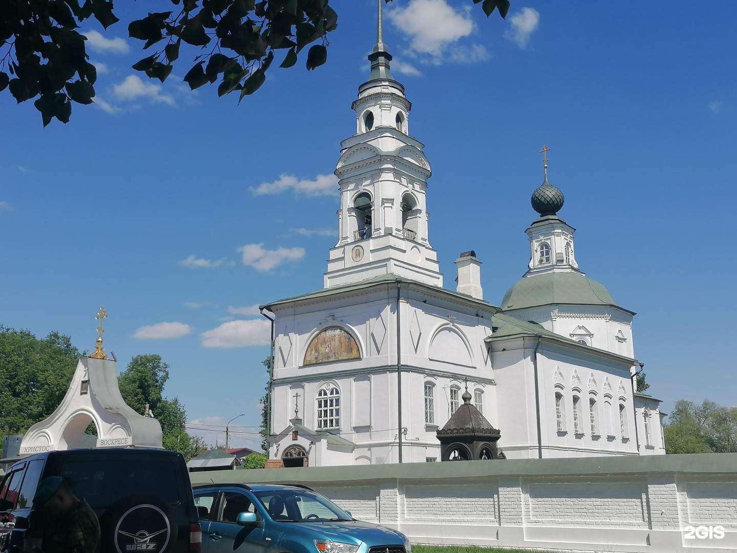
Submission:
[[[237,91],[242,99],[265,81],[277,51],[280,67],[291,67],[305,46],[307,70],[327,60],[327,33],[338,27],[329,0],[171,0],[172,11],[149,13],[128,24],[128,36],[153,54],[133,65],[162,83],[174,69],[181,46],[195,53],[184,80],[195,89],[220,80],[218,96]],[[387,2],[391,0],[385,0]],[[486,16],[505,18],[509,0],[473,0]],[[0,1],[0,91],[15,100],[35,100],[43,125],[68,122],[71,102],[91,104],[97,69],[89,62],[80,23],[94,17],[107,29],[119,18],[111,0]]]

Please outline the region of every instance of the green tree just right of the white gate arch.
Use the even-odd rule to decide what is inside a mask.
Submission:
[[[201,453],[204,442],[186,432],[186,411],[178,398],[164,397],[164,386],[169,380],[169,364],[161,355],[136,355],[119,378],[120,393],[125,403],[146,414],[146,407],[161,424],[164,448],[180,451],[189,458]]]

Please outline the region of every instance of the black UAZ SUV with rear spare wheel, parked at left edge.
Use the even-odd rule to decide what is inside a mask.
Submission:
[[[63,476],[99,518],[101,553],[200,551],[202,534],[184,457],[154,449],[51,451],[23,459],[0,486],[0,552],[44,548],[39,481]]]

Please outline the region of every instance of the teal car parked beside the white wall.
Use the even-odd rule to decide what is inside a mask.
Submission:
[[[193,492],[202,553],[411,553],[402,532],[357,521],[308,487],[204,484]]]

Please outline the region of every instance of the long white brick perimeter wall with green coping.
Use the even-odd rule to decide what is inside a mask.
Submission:
[[[206,475],[206,476],[205,476]],[[737,454],[192,473],[307,484],[413,543],[595,552],[737,549]],[[724,538],[687,539],[687,526]]]

